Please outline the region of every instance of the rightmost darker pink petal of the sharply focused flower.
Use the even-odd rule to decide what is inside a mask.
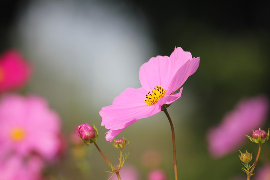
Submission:
[[[188,60],[174,75],[167,88],[168,94],[173,93],[179,89],[189,76],[191,76],[198,69],[199,57]]]

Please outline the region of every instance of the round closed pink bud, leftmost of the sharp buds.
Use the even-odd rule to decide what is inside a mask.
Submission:
[[[92,127],[89,124],[82,124],[78,126],[78,135],[86,145],[90,145],[96,141],[98,132],[95,126]]]

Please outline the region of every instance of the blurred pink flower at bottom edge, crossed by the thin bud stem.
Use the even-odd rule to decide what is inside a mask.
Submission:
[[[135,167],[125,164],[120,170],[120,176],[123,180],[139,180],[139,174]],[[110,180],[118,180],[117,175],[113,174]]]

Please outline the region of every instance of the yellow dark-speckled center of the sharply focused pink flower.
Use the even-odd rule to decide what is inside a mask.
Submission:
[[[154,90],[152,90],[151,92],[148,91],[147,94],[145,94],[145,102],[150,106],[153,104],[156,104],[156,102],[158,102],[159,99],[163,98],[164,95],[166,93],[166,90],[164,88],[161,87],[154,87]]]

